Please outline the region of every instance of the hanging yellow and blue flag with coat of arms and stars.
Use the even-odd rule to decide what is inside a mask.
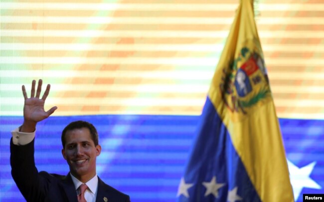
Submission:
[[[294,201],[253,0],[240,0],[177,197],[179,202]]]

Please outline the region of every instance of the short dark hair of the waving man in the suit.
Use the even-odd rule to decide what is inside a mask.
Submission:
[[[79,128],[89,129],[90,134],[91,134],[91,139],[95,143],[95,146],[97,146],[99,144],[97,129],[91,123],[86,122],[86,121],[74,121],[74,122],[69,123],[69,125],[67,125],[62,131],[61,141],[62,141],[63,149],[64,149],[64,146],[66,143],[66,141],[65,141],[66,132],[74,130],[74,129],[79,129]]]

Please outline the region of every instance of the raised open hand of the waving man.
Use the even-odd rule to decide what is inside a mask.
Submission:
[[[57,107],[52,107],[48,111],[44,110],[44,104],[46,97],[48,96],[50,85],[48,84],[46,90],[40,99],[40,92],[43,81],[41,79],[38,80],[38,86],[36,90],[35,96],[35,84],[36,81],[33,80],[31,83],[31,92],[30,98],[27,97],[25,86],[22,85],[22,94],[25,99],[25,103],[23,106],[23,118],[24,122],[21,126],[21,132],[33,132],[35,130],[36,124],[39,121],[42,121],[49,117],[53,112],[57,109]]]

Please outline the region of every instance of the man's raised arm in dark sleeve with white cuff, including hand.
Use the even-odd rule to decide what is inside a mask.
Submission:
[[[46,180],[39,176],[34,162],[33,140],[36,124],[49,117],[57,109],[57,107],[52,107],[45,112],[44,103],[50,85],[47,85],[44,95],[40,99],[42,80],[38,81],[36,95],[35,83],[36,81],[33,80],[30,98],[27,97],[25,87],[22,86],[22,94],[25,99],[23,107],[24,121],[18,129],[20,132],[12,132],[13,137],[10,141],[11,175],[21,194],[28,202],[43,199],[48,187]]]

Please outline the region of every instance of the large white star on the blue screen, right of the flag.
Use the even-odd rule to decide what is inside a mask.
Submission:
[[[287,160],[287,163],[295,200],[299,198],[303,188],[322,189],[319,184],[310,178],[316,162],[304,166],[303,168],[298,168],[289,160]]]

